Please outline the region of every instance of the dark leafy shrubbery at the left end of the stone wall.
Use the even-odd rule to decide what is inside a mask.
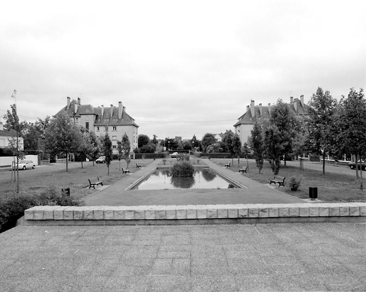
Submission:
[[[82,201],[57,192],[50,186],[39,195],[14,193],[0,199],[0,232],[13,228],[17,220],[24,215],[24,210],[33,206],[80,206]]]

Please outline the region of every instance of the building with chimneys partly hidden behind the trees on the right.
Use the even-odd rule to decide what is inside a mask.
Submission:
[[[290,97],[290,103],[287,105],[296,116],[309,115],[304,104],[304,95],[301,95],[300,99]],[[262,106],[261,103],[255,106],[254,100],[250,101],[250,106],[247,106],[246,112],[238,118],[238,122],[234,125],[235,133],[239,135],[242,144],[248,142],[254,124],[262,124],[263,120],[269,119],[270,113],[270,103],[268,106]]]

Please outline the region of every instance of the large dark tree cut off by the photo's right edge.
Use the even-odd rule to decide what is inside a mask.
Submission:
[[[343,153],[352,153],[356,159],[356,177],[358,177],[358,159],[366,154],[366,100],[363,89],[359,92],[350,89],[347,98],[342,97],[336,119],[336,145]],[[361,189],[362,170],[361,170]]]

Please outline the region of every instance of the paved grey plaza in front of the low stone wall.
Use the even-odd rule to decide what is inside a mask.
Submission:
[[[365,223],[18,226],[1,292],[366,291]]]

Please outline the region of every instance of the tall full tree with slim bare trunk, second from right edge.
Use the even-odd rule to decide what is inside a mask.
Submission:
[[[332,127],[337,101],[329,91],[318,87],[309,102],[308,145],[315,154],[323,154],[323,174],[325,174],[325,155],[333,145]]]

